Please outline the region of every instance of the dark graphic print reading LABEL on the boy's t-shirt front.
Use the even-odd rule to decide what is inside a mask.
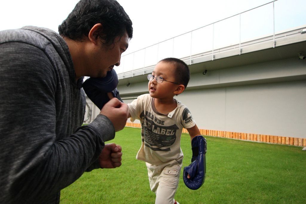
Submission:
[[[154,151],[170,151],[169,147],[176,140],[176,131],[179,129],[176,124],[165,126],[164,122],[146,111],[140,114],[142,118],[141,135],[144,137],[145,146]]]

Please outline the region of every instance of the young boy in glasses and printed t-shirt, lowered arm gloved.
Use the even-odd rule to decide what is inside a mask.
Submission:
[[[195,143],[193,138],[203,139],[188,108],[173,98],[187,87],[190,72],[186,63],[180,59],[166,58],[159,61],[152,74],[147,77],[149,94],[140,95],[128,104],[131,121],[139,119],[142,126],[142,144],[136,158],[146,162],[151,191],[156,194],[155,203],[178,203],[174,200],[174,195],[183,160],[180,147],[182,128],[188,130],[192,144]],[[189,169],[184,182],[186,180],[186,186],[191,189],[192,185],[197,185],[193,188],[197,189],[204,182],[205,170],[203,171],[203,159],[200,170],[196,169],[199,169],[196,162],[193,163],[193,167],[186,167]],[[199,172],[202,174],[200,181]]]

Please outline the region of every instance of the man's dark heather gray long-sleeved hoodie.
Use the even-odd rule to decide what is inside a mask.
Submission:
[[[0,76],[0,203],[58,203],[61,189],[99,168],[114,127],[103,115],[81,126],[83,79],[51,30],[1,31]]]

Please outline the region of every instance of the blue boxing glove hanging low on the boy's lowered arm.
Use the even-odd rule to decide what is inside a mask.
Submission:
[[[191,141],[192,159],[189,166],[184,167],[183,180],[191,190],[199,189],[205,181],[206,174],[206,139],[201,135],[194,137]],[[190,178],[188,179],[188,174]]]

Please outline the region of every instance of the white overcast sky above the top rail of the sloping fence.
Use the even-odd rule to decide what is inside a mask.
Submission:
[[[128,53],[272,0],[118,0],[133,22]],[[279,0],[285,1],[285,0]],[[58,31],[78,0],[1,0],[0,30],[34,25]]]

